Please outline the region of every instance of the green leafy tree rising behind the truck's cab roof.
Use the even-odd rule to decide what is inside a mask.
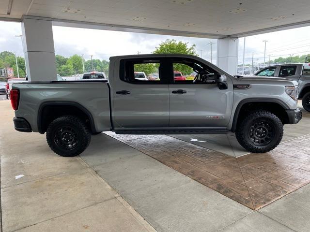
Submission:
[[[167,39],[164,42],[159,43],[159,46],[156,47],[153,54],[187,54],[197,56],[196,53],[196,44],[191,46],[188,43],[183,43],[181,41],[177,42],[176,40]],[[189,75],[193,72],[193,69],[185,64],[174,63],[173,71],[179,71],[184,75]]]

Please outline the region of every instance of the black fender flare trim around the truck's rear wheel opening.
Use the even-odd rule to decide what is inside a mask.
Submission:
[[[44,107],[49,106],[49,105],[54,105],[54,106],[67,105],[67,106],[77,107],[79,110],[83,111],[89,117],[90,123],[91,123],[91,131],[97,132],[96,128],[95,128],[94,120],[93,120],[93,115],[91,114],[91,112],[88,109],[86,109],[80,103],[72,102],[72,101],[47,101],[47,102],[42,102],[39,106],[39,109],[38,109],[37,124],[38,124],[39,133],[44,134],[44,131],[42,129],[42,111],[43,111]]]

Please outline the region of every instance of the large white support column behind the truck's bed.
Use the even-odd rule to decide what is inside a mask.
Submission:
[[[24,15],[21,26],[28,80],[57,80],[51,19]]]

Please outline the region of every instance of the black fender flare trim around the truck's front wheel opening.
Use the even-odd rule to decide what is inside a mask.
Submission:
[[[285,109],[285,110],[290,109],[287,104],[285,104],[284,102],[282,102],[281,100],[276,99],[276,98],[248,98],[248,99],[241,100],[238,103],[236,110],[234,112],[234,115],[233,115],[233,124],[232,124],[232,130],[231,130],[232,132],[236,131],[237,121],[238,121],[238,117],[239,117],[240,110],[241,110],[242,106],[244,106],[247,103],[251,103],[251,102],[277,103],[280,106],[282,106],[283,109]]]

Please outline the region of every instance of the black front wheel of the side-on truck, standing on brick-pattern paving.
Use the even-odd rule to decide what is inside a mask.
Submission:
[[[264,153],[276,148],[282,140],[283,124],[268,111],[255,111],[237,125],[236,138],[249,152]]]

